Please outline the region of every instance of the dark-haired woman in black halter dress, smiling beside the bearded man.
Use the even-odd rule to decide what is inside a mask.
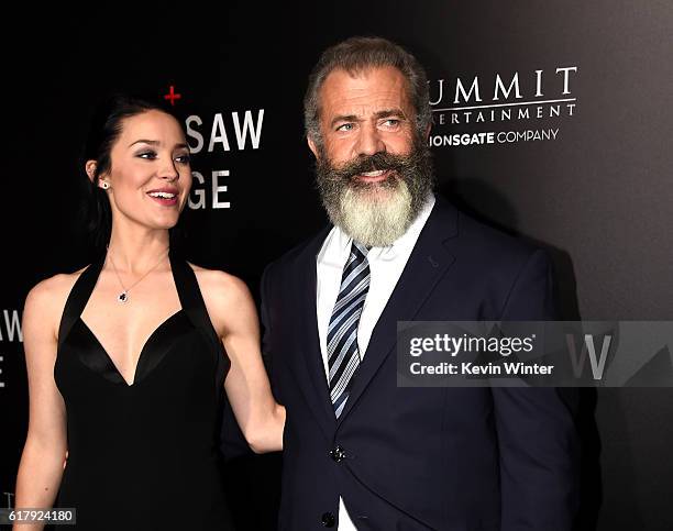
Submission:
[[[222,381],[255,452],[280,450],[285,422],[254,303],[238,278],[170,252],[191,185],[173,115],[115,97],[86,158],[109,243],[100,261],[27,296],[30,423],[15,506],[47,508],[59,491],[76,529],[232,529],[217,466]]]

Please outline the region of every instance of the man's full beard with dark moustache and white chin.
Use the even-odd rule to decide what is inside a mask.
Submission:
[[[334,167],[320,151],[318,190],[330,221],[358,243],[385,247],[402,236],[433,188],[430,150],[416,143],[409,155],[376,153]],[[353,176],[393,169],[382,182],[358,182]]]

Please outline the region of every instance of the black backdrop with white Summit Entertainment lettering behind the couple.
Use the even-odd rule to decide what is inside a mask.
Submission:
[[[187,255],[257,297],[264,266],[326,223],[302,129],[311,67],[347,36],[391,38],[428,71],[438,192],[544,246],[564,319],[673,319],[673,4],[251,3],[11,22],[20,36],[3,43],[1,507],[13,504],[27,425],[25,295],[92,258],[78,157],[92,106],[112,89],[153,95],[184,120],[195,177]],[[673,372],[672,353],[659,354]],[[673,390],[585,391],[578,529],[673,529]],[[274,529],[280,466],[280,455],[252,454],[225,465],[241,529]]]

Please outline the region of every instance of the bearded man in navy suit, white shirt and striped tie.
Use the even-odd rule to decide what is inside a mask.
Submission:
[[[398,388],[397,321],[553,319],[544,254],[432,195],[427,78],[383,38],[328,49],[305,99],[333,226],[262,279],[287,408],[279,529],[566,530],[555,389]]]

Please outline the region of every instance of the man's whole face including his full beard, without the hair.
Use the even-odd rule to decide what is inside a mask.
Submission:
[[[319,97],[320,137],[309,137],[309,146],[328,215],[364,245],[391,245],[420,212],[433,181],[408,84],[394,67],[333,70]]]

